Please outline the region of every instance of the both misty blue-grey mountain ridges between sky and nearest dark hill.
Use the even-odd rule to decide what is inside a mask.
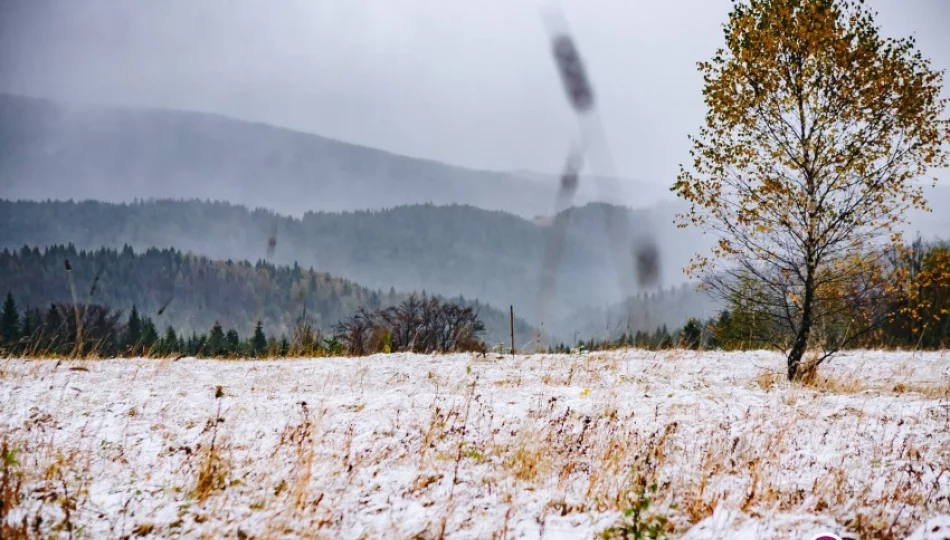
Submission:
[[[607,198],[641,206],[629,210],[631,233],[656,238],[662,284],[684,283],[681,268],[709,238],[675,228],[683,207],[664,186],[621,183],[628,192]],[[373,289],[513,304],[530,320],[549,231],[548,220],[534,218],[551,214],[556,185],[552,175],[455,167],[216,115],[0,94],[0,247],[129,244],[253,262],[276,231],[275,263]],[[532,323],[590,334],[625,311],[608,307],[623,295],[604,235],[604,213],[621,210],[591,204],[601,195],[586,178],[578,208],[559,216],[570,226],[556,321]],[[913,216],[909,232],[947,238],[950,188],[927,195],[934,212]],[[711,309],[690,295],[677,302],[642,324],[679,324],[692,307],[695,315]]]

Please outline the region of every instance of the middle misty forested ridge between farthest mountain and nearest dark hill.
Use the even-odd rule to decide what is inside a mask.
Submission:
[[[605,212],[628,212],[631,233],[652,231],[660,247],[662,282],[680,271],[703,237],[672,223],[676,207],[624,210],[601,204],[575,208],[568,220],[558,272],[556,313],[614,304],[622,297]],[[471,206],[415,205],[381,211],[306,213],[201,201],[131,204],[0,200],[0,247],[72,243],[81,249],[174,247],[212,259],[255,261],[268,241],[269,261],[295,262],[373,289],[426,290],[513,305],[533,320],[548,226]],[[621,249],[623,249],[621,247]],[[624,270],[628,275],[632,269]]]

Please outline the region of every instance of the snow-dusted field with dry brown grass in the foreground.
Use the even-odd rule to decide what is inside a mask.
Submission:
[[[782,366],[0,360],[0,536],[950,537],[950,353]]]

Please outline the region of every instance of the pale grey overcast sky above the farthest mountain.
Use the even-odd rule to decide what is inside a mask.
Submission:
[[[950,67],[950,1],[868,0]],[[618,172],[670,183],[729,0],[565,0]],[[536,0],[0,0],[0,90],[215,112],[489,169],[575,132]]]

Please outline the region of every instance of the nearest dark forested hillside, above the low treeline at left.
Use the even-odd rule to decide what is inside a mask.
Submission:
[[[290,334],[304,316],[329,332],[359,307],[386,307],[405,298],[392,289],[370,290],[299,265],[211,260],[174,249],[135,253],[129,247],[84,251],[54,246],[0,251],[0,294],[10,291],[21,307],[42,310],[53,302],[73,301],[70,279],[79,303],[125,312],[135,305],[160,329],[170,325],[188,332],[205,332],[218,321],[249,335],[261,320],[268,334],[279,336]],[[461,302],[476,304],[489,343],[509,340],[507,311]],[[516,323],[519,343],[530,341],[535,332],[520,319]]]

